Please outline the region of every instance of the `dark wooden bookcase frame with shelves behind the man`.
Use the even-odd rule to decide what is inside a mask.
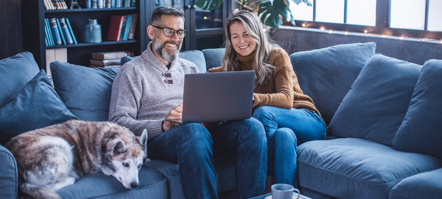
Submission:
[[[137,0],[136,7],[128,8],[81,8],[66,10],[45,10],[43,0],[22,0],[23,49],[34,55],[40,69],[46,70],[46,49],[67,49],[67,61],[70,64],[89,66],[91,53],[106,51],[131,50],[140,55],[147,47],[145,10],[149,5],[144,0]],[[134,40],[107,41],[110,16],[137,14],[137,27]],[[46,46],[45,18],[69,18],[72,31],[78,44]],[[150,16],[149,16],[150,17]],[[88,19],[97,19],[101,25],[102,42],[84,43],[84,25]],[[141,22],[141,23],[140,23]]]

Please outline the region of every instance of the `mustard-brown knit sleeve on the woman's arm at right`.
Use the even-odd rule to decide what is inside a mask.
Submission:
[[[293,107],[293,68],[291,68],[290,58],[285,52],[278,50],[273,56],[273,66],[275,67],[271,79],[274,81],[276,93],[258,94],[254,93],[253,107],[274,106],[283,109]]]

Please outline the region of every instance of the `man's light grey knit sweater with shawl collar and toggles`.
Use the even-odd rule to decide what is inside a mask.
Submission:
[[[169,111],[183,103],[184,75],[199,73],[194,63],[178,57],[168,70],[152,53],[151,45],[121,67],[112,84],[109,107],[110,122],[137,136],[147,129],[149,141],[162,133],[161,124]]]

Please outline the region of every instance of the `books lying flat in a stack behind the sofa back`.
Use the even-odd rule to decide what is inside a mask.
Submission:
[[[91,68],[120,67],[123,56],[133,56],[132,51],[91,53]]]

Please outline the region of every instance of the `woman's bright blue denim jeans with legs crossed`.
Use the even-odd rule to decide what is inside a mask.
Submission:
[[[297,187],[296,147],[311,140],[325,139],[325,124],[317,113],[306,109],[261,106],[253,117],[263,123],[267,136],[267,175],[275,183]]]

